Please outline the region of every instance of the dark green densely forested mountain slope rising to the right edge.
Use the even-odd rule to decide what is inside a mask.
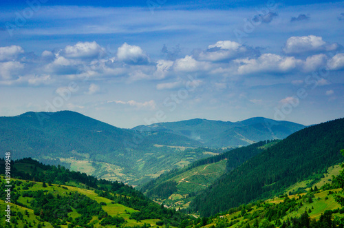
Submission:
[[[210,216],[276,196],[305,178],[320,178],[343,160],[343,148],[344,118],[301,129],[224,174],[196,196],[190,208]]]

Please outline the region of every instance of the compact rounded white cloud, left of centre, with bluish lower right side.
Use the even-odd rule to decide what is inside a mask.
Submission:
[[[123,43],[117,50],[117,58],[127,64],[147,64],[149,63],[149,56],[136,45],[129,45]]]

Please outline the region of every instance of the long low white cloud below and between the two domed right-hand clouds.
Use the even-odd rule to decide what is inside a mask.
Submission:
[[[250,74],[255,72],[286,73],[294,70],[302,64],[302,61],[294,57],[284,57],[277,54],[262,54],[257,59],[236,59],[239,65],[238,74]]]

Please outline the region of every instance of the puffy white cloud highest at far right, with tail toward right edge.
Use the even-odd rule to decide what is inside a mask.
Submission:
[[[328,44],[322,37],[310,35],[308,37],[290,37],[283,51],[286,54],[301,54],[305,52],[333,51],[339,48],[337,43]]]

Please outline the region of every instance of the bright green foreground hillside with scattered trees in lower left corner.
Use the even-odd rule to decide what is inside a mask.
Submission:
[[[10,180],[11,223],[1,219],[0,227],[178,227],[183,220],[193,220],[122,183],[28,158],[17,160],[11,168],[15,177]],[[2,211],[8,207],[5,181],[1,176]]]

